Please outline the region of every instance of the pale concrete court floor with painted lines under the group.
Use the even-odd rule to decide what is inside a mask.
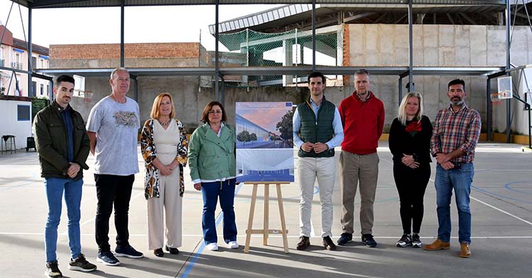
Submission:
[[[146,201],[143,197],[143,170],[135,176],[131,199],[131,245],[144,252],[138,260],[120,258],[122,264],[109,267],[97,263],[94,242],[96,190],[91,170],[85,174],[82,198],[82,250],[95,272],[68,269],[69,249],[66,208],[63,206],[57,257],[65,277],[531,277],[532,273],[532,154],[521,152],[521,145],[481,143],[475,159],[475,178],[471,193],[472,257],[458,257],[458,216],[452,206],[453,238],[450,250],[425,251],[397,248],[401,235],[399,199],[392,177],[392,155],[387,143],[379,148],[379,184],[375,201],[375,239],[377,248],[366,248],[354,234],[354,241],[337,251],[321,247],[319,196],[314,199],[311,248],[298,251],[299,189],[297,183],[284,185],[284,209],[289,230],[289,254],[282,249],[282,238],[270,235],[268,245],[254,235],[250,253],[243,246],[231,250],[223,244],[222,224],[218,225],[220,250],[204,249],[201,238],[201,192],[194,190],[185,168],[186,191],[183,205],[183,246],[179,255],[165,253],[158,258],[148,250]],[[340,150],[337,149],[337,153]],[[143,169],[143,160],[138,157]],[[94,158],[89,157],[89,165]],[[436,191],[431,182],[425,196],[425,216],[421,240],[430,243],[436,236]],[[48,208],[38,155],[19,150],[0,155],[0,277],[43,277],[45,252],[43,230]],[[297,182],[297,181],[296,181]],[[238,242],[245,243],[252,187],[240,184],[235,198]],[[272,193],[274,192],[274,193]],[[280,228],[274,187],[270,194],[270,228]],[[257,198],[254,228],[262,227],[263,189]],[[337,176],[333,194],[333,240],[340,230],[340,187]],[[355,200],[360,204],[360,200]],[[355,206],[358,213],[359,206]],[[221,218],[217,211],[217,220]],[[355,228],[359,227],[358,216]],[[111,246],[114,247],[111,219]]]

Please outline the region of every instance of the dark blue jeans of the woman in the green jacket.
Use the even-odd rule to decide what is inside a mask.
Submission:
[[[236,241],[237,231],[235,209],[233,207],[235,202],[235,181],[236,179],[228,179],[225,182],[201,183],[201,194],[203,194],[201,228],[203,228],[205,245],[218,242],[216,223],[214,220],[214,212],[216,211],[218,197],[223,211],[223,240],[225,240],[226,243]]]

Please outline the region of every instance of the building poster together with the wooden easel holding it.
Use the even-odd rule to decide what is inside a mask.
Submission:
[[[281,185],[294,182],[292,102],[237,102],[235,106],[237,182],[253,184],[244,252],[248,253],[250,250],[252,234],[262,234],[263,245],[267,245],[270,234],[277,234],[282,235],[284,252],[288,253],[288,230],[284,219]],[[253,229],[260,184],[265,187],[264,225],[262,229]],[[272,184],[277,189],[281,229],[270,229]]]

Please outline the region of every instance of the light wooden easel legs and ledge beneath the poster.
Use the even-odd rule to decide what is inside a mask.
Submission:
[[[290,184],[289,182],[245,182],[244,184],[253,184],[253,194],[251,195],[251,206],[250,206],[250,218],[248,219],[248,230],[245,230],[245,248],[244,252],[250,252],[250,240],[251,234],[259,233],[262,234],[262,245],[268,244],[268,235],[279,233],[282,234],[282,244],[284,246],[284,252],[288,253],[288,230],[287,225],[284,221],[284,208],[282,205],[282,194],[281,194],[281,184]],[[253,230],[253,214],[255,213],[255,201],[257,201],[257,189],[259,184],[264,184],[264,227],[262,229]],[[277,203],[279,204],[279,216],[281,216],[281,230],[270,229],[269,227],[269,218],[270,218],[270,184],[275,184],[277,187]]]

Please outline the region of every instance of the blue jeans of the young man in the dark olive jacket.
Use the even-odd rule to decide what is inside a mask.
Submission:
[[[82,252],[79,240],[79,206],[82,201],[83,179],[60,179],[56,177],[45,178],[46,199],[48,200],[48,219],[45,226],[46,262],[57,260],[57,226],[61,218],[63,191],[68,216],[68,245],[70,255],[74,259]]]

